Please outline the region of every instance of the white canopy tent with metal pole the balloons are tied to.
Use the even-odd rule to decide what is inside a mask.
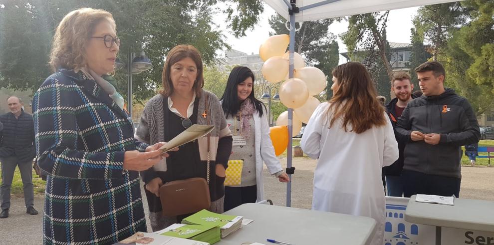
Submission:
[[[290,22],[290,60],[288,77],[293,78],[293,53],[295,50],[295,22],[348,16],[397,8],[423,6],[452,2],[454,0],[263,0],[278,14]],[[327,74],[326,74],[327,75]],[[288,148],[286,173],[290,176],[292,167],[292,118],[293,109],[288,108]],[[291,206],[291,182],[286,186],[286,206]]]

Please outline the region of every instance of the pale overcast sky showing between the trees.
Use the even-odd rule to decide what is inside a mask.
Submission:
[[[412,19],[417,13],[418,7],[395,9],[389,12],[387,36],[390,42],[404,42],[410,43],[410,28],[412,28]],[[235,38],[234,35],[227,31],[225,24],[225,17],[222,14],[218,14],[215,18],[216,24],[219,24],[220,28],[225,30],[224,33],[227,36],[227,42],[233,49],[245,52],[245,53],[259,53],[259,46],[264,40],[269,37],[268,18],[273,15],[275,11],[264,4],[264,12],[260,16],[258,24],[253,30],[248,30],[246,36],[241,38]],[[339,35],[348,29],[348,22],[336,22],[329,26],[329,31]],[[346,52],[346,46],[341,42],[338,37],[339,51]],[[340,56],[341,58],[341,56]],[[341,63],[341,61],[340,61]]]

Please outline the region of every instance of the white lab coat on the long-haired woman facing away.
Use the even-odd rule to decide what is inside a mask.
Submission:
[[[383,127],[361,134],[341,128],[335,121],[326,123],[329,104],[320,104],[305,127],[300,146],[317,161],[314,172],[312,209],[371,217],[377,221],[371,245],[382,245],[385,197],[381,171],[398,159],[398,144],[393,126],[386,118]],[[383,114],[383,116],[385,116]]]

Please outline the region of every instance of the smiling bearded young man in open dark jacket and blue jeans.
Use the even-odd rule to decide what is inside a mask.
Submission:
[[[412,101],[415,95],[412,94],[413,83],[410,75],[405,72],[393,74],[391,81],[391,91],[395,93],[395,98],[386,105],[386,113],[393,128],[396,128],[397,119],[401,116],[408,102]],[[405,149],[406,140],[401,140],[401,137],[395,130],[395,137],[398,142],[400,157],[392,165],[383,168],[383,176],[386,178],[386,188],[388,189],[387,196],[402,197],[403,196],[403,181],[401,172],[403,170],[403,150]]]

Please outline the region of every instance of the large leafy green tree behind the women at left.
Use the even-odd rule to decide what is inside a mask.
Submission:
[[[217,3],[225,3],[236,36],[244,35],[263,10],[260,0],[0,0],[0,87],[37,90],[51,73],[47,61],[57,24],[75,8],[93,7],[113,14],[121,60],[127,62],[130,51],[150,57],[152,69],[133,79],[134,99],[149,98],[161,86],[165,55],[175,45],[196,46],[207,64],[216,62],[216,51],[229,48],[212,21],[221,11]],[[115,76],[125,95],[126,74]]]

